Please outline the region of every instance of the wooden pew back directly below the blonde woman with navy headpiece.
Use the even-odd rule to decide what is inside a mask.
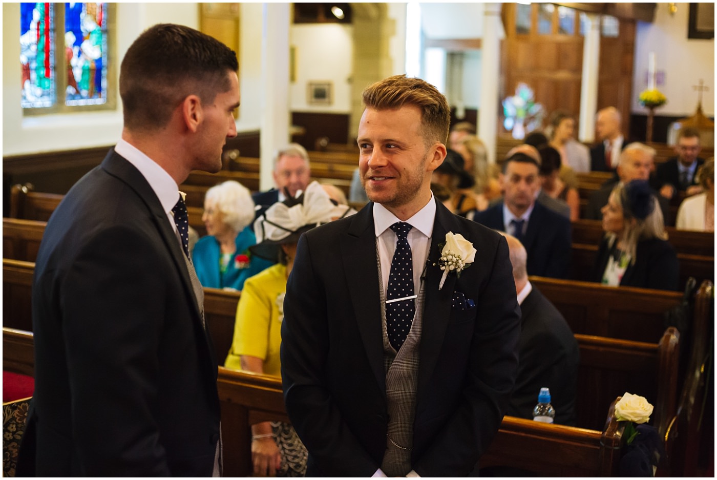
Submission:
[[[563,314],[574,334],[636,342],[659,342],[665,331],[663,313],[682,300],[676,291],[536,276],[530,281]]]

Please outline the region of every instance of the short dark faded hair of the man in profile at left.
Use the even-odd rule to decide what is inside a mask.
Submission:
[[[187,95],[212,103],[231,88],[237,54],[219,40],[182,25],[157,24],[130,45],[120,67],[124,125],[130,130],[166,126]]]

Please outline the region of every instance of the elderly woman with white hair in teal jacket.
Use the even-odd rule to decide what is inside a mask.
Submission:
[[[230,180],[206,191],[205,237],[194,245],[192,260],[204,287],[242,290],[244,281],[272,265],[252,258],[249,248],[257,243],[251,223],[254,202],[249,189]]]

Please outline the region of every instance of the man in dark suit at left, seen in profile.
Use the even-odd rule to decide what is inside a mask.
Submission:
[[[238,67],[172,24],[125,54],[122,138],[65,195],[37,255],[19,476],[220,473],[217,361],[178,185],[221,168]]]

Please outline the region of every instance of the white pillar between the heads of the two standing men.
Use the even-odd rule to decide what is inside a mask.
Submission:
[[[274,186],[275,151],[290,141],[289,28],[290,4],[265,3],[262,27],[260,189]]]

